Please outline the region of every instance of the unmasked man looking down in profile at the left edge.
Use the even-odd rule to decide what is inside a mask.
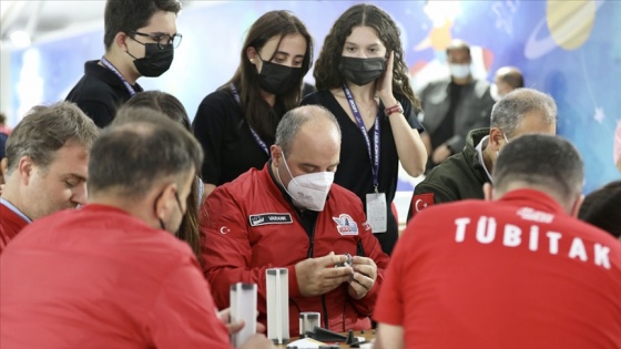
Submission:
[[[73,103],[35,106],[7,142],[0,254],[30,222],[86,203],[89,152],[99,134]]]

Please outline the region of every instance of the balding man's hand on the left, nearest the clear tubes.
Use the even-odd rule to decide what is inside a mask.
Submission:
[[[354,273],[352,267],[334,267],[346,260],[346,256],[330,253],[324,257],[308,258],[296,264],[295,274],[302,296],[319,296],[348,281]]]

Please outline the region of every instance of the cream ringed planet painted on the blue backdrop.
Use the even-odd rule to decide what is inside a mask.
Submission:
[[[604,2],[604,0],[548,0],[546,18],[535,27],[526,43],[526,58],[538,59],[559,47],[564,50],[580,48],[591,35],[595,13]],[[544,25],[550,35],[540,39]]]

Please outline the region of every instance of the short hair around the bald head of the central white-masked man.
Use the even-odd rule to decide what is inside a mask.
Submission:
[[[293,141],[302,126],[312,120],[317,120],[318,117],[323,117],[324,120],[332,122],[338,132],[338,136],[340,137],[340,127],[338,126],[336,117],[334,117],[334,114],[329,110],[320,105],[304,105],[292,109],[283,116],[278,123],[278,127],[276,129],[275,144],[281,146],[283,152],[288,153]]]

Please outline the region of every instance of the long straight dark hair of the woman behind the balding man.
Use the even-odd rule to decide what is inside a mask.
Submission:
[[[258,52],[269,39],[275,37],[279,38],[277,45],[279,48],[284,37],[295,33],[306,39],[306,54],[304,54],[304,60],[302,61],[302,74],[297,89],[292,89],[284,95],[276,95],[276,103],[283,109],[282,113],[299,105],[303,76],[306,75],[313,64],[313,38],[297,17],[284,10],[269,11],[252,24],[242,47],[240,66],[237,66],[233,78],[225,85],[221,86],[222,90],[228,91],[230,84],[233,83],[241,90],[240,99],[244,117],[264,140],[273,140],[275,137],[276,126],[283,115],[276,112],[262,97],[258,73],[256,66],[248,61],[246,50],[254,48]],[[274,51],[274,54],[276,51]],[[272,61],[274,55],[266,61]]]

